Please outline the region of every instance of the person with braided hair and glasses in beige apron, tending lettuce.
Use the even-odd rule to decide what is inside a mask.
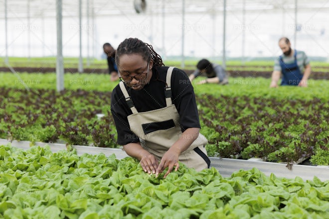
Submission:
[[[115,57],[121,82],[113,89],[111,112],[118,144],[140,160],[145,172],[166,177],[179,162],[209,168],[193,87],[185,72],[165,67],[152,45],[125,39]]]

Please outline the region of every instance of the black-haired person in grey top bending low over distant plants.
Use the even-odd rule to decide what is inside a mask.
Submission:
[[[220,85],[228,84],[228,77],[225,70],[220,65],[209,62],[207,59],[201,59],[197,65],[196,70],[189,76],[192,82],[196,77],[204,73],[207,79],[199,81],[197,84],[215,83]]]

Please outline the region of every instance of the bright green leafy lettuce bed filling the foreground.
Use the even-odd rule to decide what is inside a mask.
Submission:
[[[78,156],[48,146],[0,146],[4,219],[329,218],[329,181],[265,176],[258,169],[223,178],[181,165],[165,179],[131,157]]]

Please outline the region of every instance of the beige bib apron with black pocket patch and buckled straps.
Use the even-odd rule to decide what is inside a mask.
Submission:
[[[165,88],[166,107],[147,112],[138,112],[130,98],[125,85],[120,82],[120,88],[126,102],[133,114],[128,116],[130,129],[140,138],[141,145],[160,161],[165,152],[175,143],[182,132],[179,125],[179,114],[171,102],[171,73],[169,67],[166,75],[167,87]],[[209,168],[210,160],[204,145],[208,140],[199,134],[187,150],[179,155],[179,161],[187,167],[197,171]]]

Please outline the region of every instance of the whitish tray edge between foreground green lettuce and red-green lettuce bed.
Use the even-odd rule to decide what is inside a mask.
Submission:
[[[0,145],[5,145],[7,143],[10,143],[10,141],[6,139],[0,139]],[[30,143],[31,143],[30,141],[14,140],[11,142],[11,145],[26,150],[30,147]],[[53,152],[66,149],[65,144],[44,143],[44,142],[35,142],[34,144],[41,147],[47,144],[50,146],[50,149]],[[114,153],[117,159],[122,159],[128,156],[125,151],[117,148],[103,148],[103,147],[92,147],[92,146],[82,146],[82,145],[73,145],[72,147],[76,149],[78,155],[82,155],[84,153],[88,153],[88,154],[104,153],[106,156],[109,156]],[[233,172],[238,171],[240,169],[250,170],[256,167],[267,176],[270,176],[271,173],[273,173],[277,177],[285,177],[289,179],[301,177],[303,180],[313,180],[314,176],[317,176],[322,181],[329,180],[329,167],[327,166],[309,166],[309,165],[294,164],[291,169],[288,169],[286,167],[287,164],[283,164],[283,163],[217,158],[217,157],[210,157],[210,160],[211,160],[210,166],[216,168],[223,177],[230,177]]]

